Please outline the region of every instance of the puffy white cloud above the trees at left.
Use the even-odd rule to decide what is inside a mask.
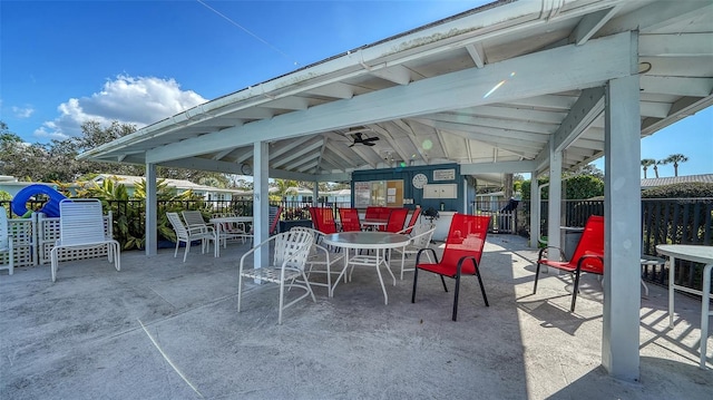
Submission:
[[[174,79],[119,75],[99,92],[60,104],[60,116],[42,124],[35,135],[53,139],[79,136],[87,120],[101,125],[118,120],[140,128],[205,101],[193,90],[180,90]]]

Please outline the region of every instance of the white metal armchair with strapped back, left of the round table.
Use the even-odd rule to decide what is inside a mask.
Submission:
[[[252,277],[260,281],[273,282],[280,284],[280,311],[277,314],[277,323],[282,324],[282,311],[297,301],[312,296],[312,301],[316,303],[310,282],[304,273],[310,248],[314,237],[312,233],[306,231],[289,231],[271,236],[266,241],[257,244],[241,257],[241,266],[237,281],[237,312],[241,311],[241,300],[243,291],[243,277]],[[250,258],[254,262],[253,253],[262,251],[263,246],[274,246],[272,263],[265,266],[247,266]],[[300,282],[296,280],[301,279]],[[289,287],[304,289],[305,293],[284,304],[285,283]]]

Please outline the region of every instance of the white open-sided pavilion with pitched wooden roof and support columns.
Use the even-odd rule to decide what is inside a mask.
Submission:
[[[143,164],[149,184],[156,166],[252,173],[260,242],[268,177],[343,182],[393,163],[456,163],[484,179],[548,174],[559,198],[563,170],[604,156],[602,363],[635,381],[641,138],[709,107],[712,89],[711,1],[502,0],[250,86],[80,158]],[[380,139],[358,143],[369,137]],[[155,204],[149,185],[147,254],[156,252]],[[560,215],[559,202],[548,204]],[[538,224],[533,216],[534,232]],[[559,221],[547,232],[558,244]]]

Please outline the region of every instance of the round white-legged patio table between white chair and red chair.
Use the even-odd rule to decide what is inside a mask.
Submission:
[[[332,292],[336,289],[339,281],[346,273],[346,269],[351,264],[353,265],[370,265],[377,269],[377,274],[379,275],[379,282],[381,283],[381,290],[383,291],[383,303],[389,304],[389,295],[387,294],[387,286],[383,283],[383,277],[381,276],[381,270],[379,269],[381,264],[387,267],[391,279],[393,280],[393,285],[397,284],[397,277],[391,272],[391,267],[389,266],[389,262],[387,261],[387,251],[397,247],[403,247],[411,238],[407,235],[401,235],[398,233],[389,233],[389,232],[340,232],[333,233],[329,235],[324,235],[322,242],[330,246],[344,248],[344,269],[339,274],[334,282],[334,286],[332,287]],[[364,255],[364,254],[354,254],[353,257],[349,257],[350,250],[373,250],[375,255]]]

